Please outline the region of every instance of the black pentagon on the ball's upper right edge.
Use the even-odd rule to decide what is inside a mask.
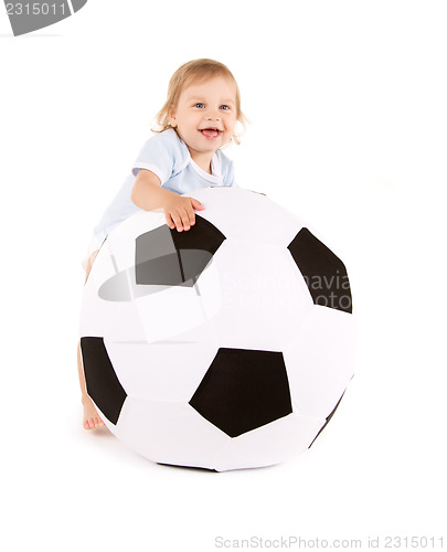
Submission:
[[[308,229],[287,246],[315,305],[352,314],[351,287],[344,264]]]

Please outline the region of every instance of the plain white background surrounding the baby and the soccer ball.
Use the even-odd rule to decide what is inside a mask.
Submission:
[[[89,0],[13,38],[2,10],[3,550],[443,535],[446,28],[438,1]],[[162,467],[81,424],[81,258],[195,57],[238,81],[240,184],[319,229],[354,291],[356,375],[315,446],[270,468]]]

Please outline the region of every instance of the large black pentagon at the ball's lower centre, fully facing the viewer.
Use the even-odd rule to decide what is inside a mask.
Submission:
[[[219,349],[189,404],[237,437],[292,412],[281,352]]]

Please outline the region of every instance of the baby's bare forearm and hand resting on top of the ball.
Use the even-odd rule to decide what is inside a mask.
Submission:
[[[194,209],[205,209],[194,198],[181,197],[161,188],[160,179],[153,172],[140,169],[134,182],[130,195],[132,202],[146,211],[162,209],[170,229],[177,227],[179,232],[190,230],[195,223]]]

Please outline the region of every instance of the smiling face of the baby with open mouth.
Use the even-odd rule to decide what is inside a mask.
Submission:
[[[170,125],[188,146],[192,159],[209,171],[214,152],[227,144],[236,123],[236,87],[215,76],[185,86],[170,112]]]

